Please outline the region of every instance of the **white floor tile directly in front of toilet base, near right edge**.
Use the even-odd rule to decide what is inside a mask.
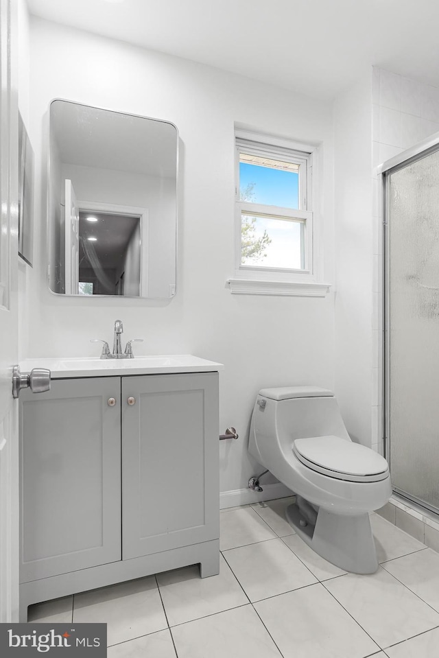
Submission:
[[[324,583],[362,628],[385,648],[439,625],[439,615],[382,567]]]

